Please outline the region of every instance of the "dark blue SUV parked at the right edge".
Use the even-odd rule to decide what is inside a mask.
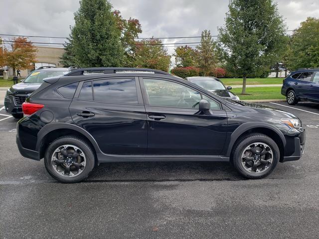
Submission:
[[[319,68],[302,68],[292,72],[283,81],[281,94],[286,96],[289,105],[299,101],[319,103]]]

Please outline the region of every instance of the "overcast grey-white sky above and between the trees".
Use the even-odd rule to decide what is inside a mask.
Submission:
[[[319,0],[277,0],[288,29],[295,29],[308,16],[319,17]],[[217,34],[224,24],[228,0],[111,0],[124,18],[137,18],[140,37],[199,36],[203,29]],[[0,34],[68,36],[79,0],[0,0]],[[2,36],[3,38],[7,38]],[[30,38],[32,41],[48,39]],[[169,39],[165,43],[192,42]],[[63,40],[50,39],[50,42]],[[173,51],[168,48],[169,53]]]

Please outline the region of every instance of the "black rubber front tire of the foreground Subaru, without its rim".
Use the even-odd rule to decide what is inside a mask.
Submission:
[[[273,161],[268,170],[265,172],[261,173],[250,173],[244,169],[244,166],[241,164],[241,155],[243,153],[243,150],[249,146],[252,143],[255,142],[261,142],[261,143],[266,143],[270,146],[270,148],[273,151]],[[277,166],[280,158],[280,150],[278,148],[278,145],[276,142],[268,137],[267,135],[262,136],[262,135],[250,135],[246,138],[244,138],[236,147],[234,154],[233,154],[233,164],[235,168],[238,170],[238,172],[243,175],[246,178],[250,179],[258,179],[258,178],[263,178],[269,175]]]

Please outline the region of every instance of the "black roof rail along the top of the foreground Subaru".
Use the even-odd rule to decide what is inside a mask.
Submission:
[[[91,72],[91,73],[90,73]],[[92,68],[80,68],[71,71],[64,76],[81,76],[89,74],[115,74],[115,73],[153,73],[160,75],[169,75],[169,73],[159,70],[147,69],[147,68],[127,68],[127,67],[92,67]]]

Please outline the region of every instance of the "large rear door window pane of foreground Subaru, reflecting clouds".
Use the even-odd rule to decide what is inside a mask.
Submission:
[[[93,82],[94,101],[138,104],[135,79],[106,79]]]

